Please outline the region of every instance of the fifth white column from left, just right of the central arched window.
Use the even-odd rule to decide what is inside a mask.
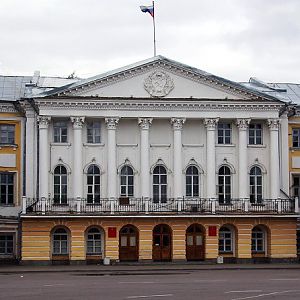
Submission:
[[[174,168],[174,198],[182,198],[182,141],[181,132],[183,124],[185,123],[184,118],[172,118],[171,124],[173,126],[173,168]]]

